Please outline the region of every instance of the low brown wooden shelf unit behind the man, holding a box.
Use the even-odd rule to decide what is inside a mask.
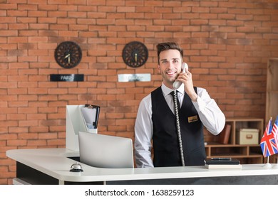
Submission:
[[[237,118],[226,119],[226,124],[232,126],[228,144],[217,142],[207,143],[205,150],[207,158],[232,157],[240,160],[240,163],[263,163],[262,149],[259,141],[264,133],[264,119]],[[237,144],[237,134],[240,129],[259,129],[258,144]]]

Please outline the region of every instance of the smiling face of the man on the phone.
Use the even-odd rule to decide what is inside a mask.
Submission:
[[[165,86],[172,88],[173,82],[181,71],[182,58],[178,50],[164,50],[160,53],[158,72]]]

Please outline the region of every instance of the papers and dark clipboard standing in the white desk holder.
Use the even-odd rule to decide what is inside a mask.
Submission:
[[[85,104],[81,107],[81,113],[88,129],[98,128],[98,116],[100,107],[90,104]]]

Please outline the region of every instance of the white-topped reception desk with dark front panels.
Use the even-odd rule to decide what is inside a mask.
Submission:
[[[81,163],[83,172],[70,172],[76,163],[72,157],[79,154],[69,149],[14,149],[6,156],[16,161],[15,184],[278,184],[276,164],[209,170],[205,166],[96,168]]]

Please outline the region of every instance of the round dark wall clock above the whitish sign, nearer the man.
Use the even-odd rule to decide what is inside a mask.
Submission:
[[[125,45],[122,56],[126,65],[138,68],[148,60],[148,48],[143,43],[133,41]]]

